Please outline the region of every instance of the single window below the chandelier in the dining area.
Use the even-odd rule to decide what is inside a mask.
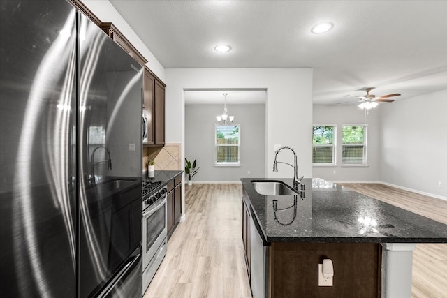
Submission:
[[[240,166],[240,124],[214,124],[214,166]]]

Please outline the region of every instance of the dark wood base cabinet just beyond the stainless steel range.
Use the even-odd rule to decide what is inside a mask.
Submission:
[[[168,181],[168,240],[182,217],[182,175]]]

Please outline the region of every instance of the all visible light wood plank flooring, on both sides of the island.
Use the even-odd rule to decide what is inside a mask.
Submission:
[[[342,184],[447,224],[447,202],[381,184]],[[251,297],[242,246],[242,185],[185,186],[186,221],[144,298]],[[417,244],[412,297],[447,297],[447,244]]]

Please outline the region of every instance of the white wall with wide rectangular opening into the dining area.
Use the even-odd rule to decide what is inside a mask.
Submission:
[[[168,68],[166,69],[166,142],[184,144],[184,89],[267,89],[265,177],[292,177],[293,169],[272,172],[274,144],[293,147],[298,173],[312,177],[312,69]],[[184,148],[182,148],[184,156]],[[287,151],[281,161],[293,163]]]

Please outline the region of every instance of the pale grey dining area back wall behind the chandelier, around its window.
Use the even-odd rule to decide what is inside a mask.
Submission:
[[[223,105],[185,106],[185,157],[197,159],[193,181],[236,181],[265,174],[265,105],[227,105],[240,124],[240,167],[214,167],[214,124]],[[250,171],[250,174],[248,174]]]

